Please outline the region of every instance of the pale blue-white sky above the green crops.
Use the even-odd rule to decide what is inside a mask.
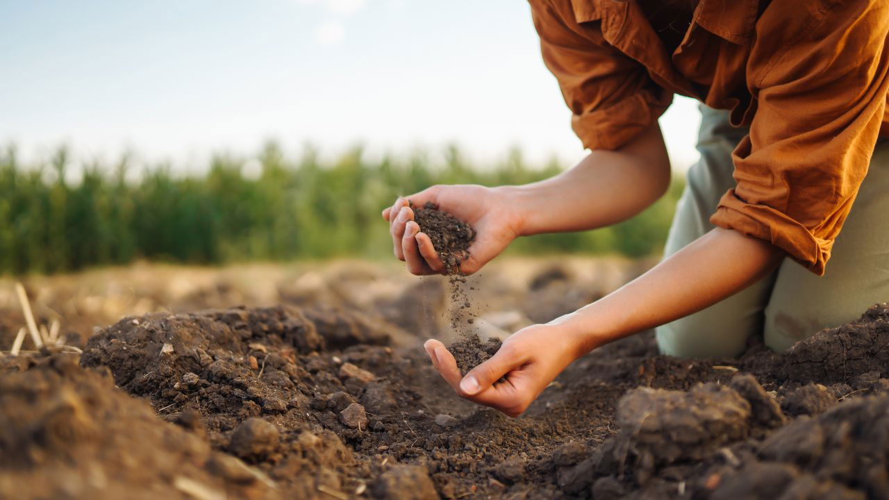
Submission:
[[[0,0],[0,144],[201,165],[268,140],[334,155],[458,144],[585,155],[517,0]],[[700,115],[661,118],[672,163]]]

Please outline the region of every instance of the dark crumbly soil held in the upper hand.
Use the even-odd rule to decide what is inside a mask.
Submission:
[[[447,274],[459,273],[461,262],[469,257],[469,246],[476,238],[476,231],[452,214],[438,210],[438,206],[432,202],[426,202],[421,208],[412,208],[414,222],[432,241]]]

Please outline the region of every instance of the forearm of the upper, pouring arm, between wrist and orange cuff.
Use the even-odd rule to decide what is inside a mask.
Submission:
[[[546,181],[506,188],[524,212],[521,234],[591,230],[621,222],[669,186],[669,158],[653,125],[616,151],[597,150]]]

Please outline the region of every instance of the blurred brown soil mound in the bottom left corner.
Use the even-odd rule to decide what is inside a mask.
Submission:
[[[278,497],[272,480],[164,423],[107,370],[84,370],[67,354],[4,368],[0,497]]]

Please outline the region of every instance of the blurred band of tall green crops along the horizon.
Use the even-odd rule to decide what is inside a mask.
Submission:
[[[517,184],[568,165],[526,165],[509,152],[495,165],[470,165],[459,149],[369,160],[353,149],[323,161],[308,149],[285,157],[269,144],[256,157],[218,156],[199,174],[171,165],[77,165],[66,178],[68,150],[22,165],[16,149],[0,151],[0,273],[59,272],[135,259],[196,264],[284,261],[391,252],[380,210],[398,195],[435,183]],[[135,172],[130,172],[135,171]],[[132,175],[138,173],[138,175]],[[135,180],[133,180],[135,179]],[[625,254],[661,251],[681,181],[628,222],[583,233],[520,238],[516,254]]]

